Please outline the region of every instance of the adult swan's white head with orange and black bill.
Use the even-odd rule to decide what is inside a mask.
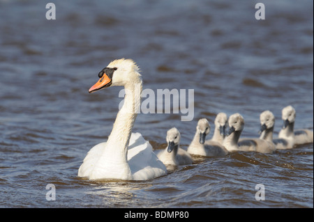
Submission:
[[[140,70],[132,59],[121,58],[112,61],[98,74],[99,80],[91,86],[89,93],[110,86],[126,86],[128,84],[140,84],[142,82]]]

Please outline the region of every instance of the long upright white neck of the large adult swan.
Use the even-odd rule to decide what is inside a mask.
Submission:
[[[142,80],[135,84],[128,84],[124,88],[126,91],[124,105],[117,114],[112,132],[108,137],[98,163],[107,172],[112,170],[118,178],[122,178],[121,175],[124,175],[124,179],[130,180],[132,179],[132,174],[127,159],[128,143],[137,116],[136,110],[140,106]],[[117,172],[117,169],[119,169],[119,172]],[[110,175],[110,177],[112,176]]]

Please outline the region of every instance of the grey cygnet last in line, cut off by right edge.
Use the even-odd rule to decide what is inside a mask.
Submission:
[[[293,132],[296,111],[292,106],[286,106],[282,110],[283,128],[278,134],[278,138],[284,138],[293,145],[313,143],[313,131],[308,129],[298,129]]]

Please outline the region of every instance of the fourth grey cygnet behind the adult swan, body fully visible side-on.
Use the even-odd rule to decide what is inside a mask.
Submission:
[[[244,129],[244,118],[239,113],[234,113],[229,118],[229,135],[225,138],[223,145],[229,151],[255,151],[262,153],[271,153],[276,150],[274,143],[260,138],[240,139]]]

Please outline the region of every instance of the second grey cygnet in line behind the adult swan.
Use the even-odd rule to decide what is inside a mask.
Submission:
[[[205,138],[210,132],[210,125],[206,118],[198,120],[195,136],[188,146],[188,153],[205,157],[223,157],[227,150],[216,141],[206,141]]]

